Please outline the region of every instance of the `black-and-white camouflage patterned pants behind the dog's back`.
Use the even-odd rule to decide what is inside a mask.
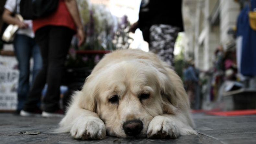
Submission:
[[[174,44],[180,28],[170,25],[153,25],[149,29],[149,51],[154,52],[174,69]]]

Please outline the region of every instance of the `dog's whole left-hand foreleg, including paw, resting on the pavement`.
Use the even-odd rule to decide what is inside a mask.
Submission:
[[[78,101],[74,98],[57,132],[70,132],[76,139],[104,139],[106,128],[103,121],[97,113],[79,107]]]

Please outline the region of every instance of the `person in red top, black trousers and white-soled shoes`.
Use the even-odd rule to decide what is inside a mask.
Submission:
[[[79,46],[85,40],[76,0],[59,0],[55,12],[33,20],[33,25],[35,38],[41,50],[43,67],[31,87],[20,115],[41,114],[43,117],[62,117],[63,111],[60,109],[59,100],[64,62],[73,35],[77,34]],[[41,91],[46,83],[48,87],[42,101],[41,113],[37,103],[41,100]]]

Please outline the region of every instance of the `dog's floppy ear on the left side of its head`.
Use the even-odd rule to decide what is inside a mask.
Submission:
[[[86,78],[82,88],[82,95],[79,98],[79,106],[89,111],[96,112],[97,109],[98,90],[97,84],[94,82],[93,76]]]

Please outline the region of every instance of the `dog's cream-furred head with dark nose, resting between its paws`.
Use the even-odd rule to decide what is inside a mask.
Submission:
[[[146,60],[109,65],[87,77],[80,106],[96,112],[110,136],[145,138],[155,116],[175,114],[187,102],[178,96],[186,95],[180,78],[171,73],[176,81],[162,65]]]

